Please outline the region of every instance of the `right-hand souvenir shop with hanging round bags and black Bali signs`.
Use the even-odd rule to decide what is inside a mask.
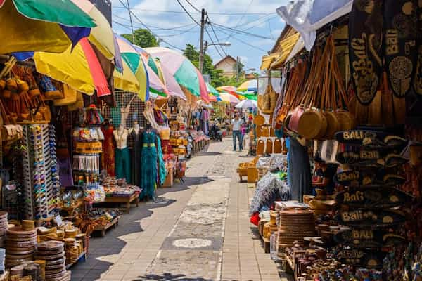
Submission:
[[[261,93],[254,122],[281,154],[258,137],[239,166],[250,221],[295,280],[421,280],[421,6],[352,2],[302,13],[324,22],[313,35],[298,4],[278,9],[290,48],[263,67],[281,91]]]

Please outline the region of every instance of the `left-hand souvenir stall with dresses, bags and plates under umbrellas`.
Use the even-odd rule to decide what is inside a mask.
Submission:
[[[13,57],[2,56],[0,70],[0,271],[70,280],[91,237],[184,177],[194,134],[179,112],[168,115],[167,100],[116,90],[109,103]]]

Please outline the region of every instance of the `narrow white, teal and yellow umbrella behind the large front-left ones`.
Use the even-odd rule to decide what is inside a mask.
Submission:
[[[143,64],[141,53],[136,51],[136,48],[134,47],[134,45],[132,45],[129,41],[127,41],[123,37],[120,37],[118,35],[115,35],[115,37],[117,40],[117,45],[119,46],[120,55],[122,56],[124,63],[128,66],[129,68],[128,70],[132,72],[132,74],[134,74],[134,77],[136,77],[136,80],[138,81],[139,91],[136,91],[135,93],[138,94],[139,98],[142,101],[148,100],[149,98],[148,73],[147,73],[145,65]],[[115,77],[119,77],[119,79],[124,77],[124,75],[127,75],[125,71],[123,71],[122,75],[115,73]],[[128,81],[128,79],[124,79],[123,81]],[[132,83],[129,83],[129,84],[132,84]]]

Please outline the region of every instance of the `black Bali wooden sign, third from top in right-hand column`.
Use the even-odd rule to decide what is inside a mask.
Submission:
[[[401,185],[406,181],[406,178],[396,174],[385,174],[383,171],[376,173],[368,171],[347,170],[335,175],[335,182],[345,186],[363,186],[363,187],[378,187],[378,186],[395,186]]]

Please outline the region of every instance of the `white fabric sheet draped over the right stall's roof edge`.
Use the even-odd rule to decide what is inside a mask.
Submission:
[[[352,11],[353,0],[288,1],[277,8],[277,13],[295,30],[310,51],[316,39],[316,30]]]

